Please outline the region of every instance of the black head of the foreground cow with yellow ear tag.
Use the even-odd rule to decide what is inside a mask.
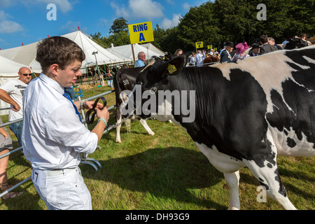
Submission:
[[[155,108],[151,106],[145,107],[145,104],[148,100],[152,99],[151,96],[155,95],[155,99],[158,101],[158,91],[162,90],[164,85],[168,83],[169,76],[177,76],[181,73],[184,66],[188,62],[187,54],[179,55],[172,60],[167,62],[163,61],[159,57],[154,57],[148,66],[146,66],[137,77],[137,88],[136,88],[136,101],[135,108],[142,111],[138,113],[141,118],[151,117],[151,113],[157,112]],[[139,93],[141,92],[141,94]],[[141,99],[139,102],[139,97]],[[158,102],[157,102],[158,103]],[[156,104],[158,105],[158,104]],[[145,110],[148,108],[148,110]]]

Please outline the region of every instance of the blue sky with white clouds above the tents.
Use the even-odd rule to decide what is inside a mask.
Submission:
[[[190,7],[206,0],[0,0],[0,48],[14,48],[80,30],[109,34],[113,20],[123,17],[130,24],[152,21],[153,29],[174,27]],[[48,4],[55,4],[55,18]]]

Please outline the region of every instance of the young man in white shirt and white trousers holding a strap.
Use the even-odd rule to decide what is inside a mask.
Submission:
[[[93,153],[102,138],[109,111],[97,104],[99,120],[92,131],[78,118],[80,102],[64,97],[81,76],[83,50],[69,38],[52,36],[38,45],[43,72],[31,81],[23,98],[22,145],[33,168],[31,179],[48,209],[92,209],[91,195],[80,174],[80,153]],[[92,109],[94,102],[83,102]]]

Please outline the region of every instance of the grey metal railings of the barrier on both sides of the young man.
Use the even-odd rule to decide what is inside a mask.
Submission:
[[[82,108],[83,106],[83,102],[85,100],[87,101],[90,101],[92,99],[96,99],[98,97],[103,97],[105,96],[106,94],[110,94],[112,92],[115,92],[115,90],[110,90],[108,92],[104,92],[102,94],[98,94],[98,95],[95,95],[93,97],[89,97],[87,99],[80,99],[80,97],[78,97],[78,100],[80,101],[80,106]],[[107,109],[110,111],[112,109],[116,108],[116,104],[113,105],[113,106],[109,106]],[[5,108],[5,109],[0,109],[0,110],[7,110],[7,109],[10,109],[10,108]],[[81,116],[82,116],[82,122],[83,124],[85,124],[85,127],[87,127],[87,123],[85,122],[85,113],[84,113],[84,109],[81,109]],[[0,127],[5,127],[5,126],[8,126],[8,125],[11,125],[11,124],[14,124],[14,123],[18,123],[20,121],[22,121],[23,118],[20,118],[18,120],[13,120],[13,121],[10,121],[10,122],[7,122],[7,123],[3,123],[2,125],[0,125]],[[114,125],[109,125],[108,127],[106,127],[106,130],[104,130],[103,134],[109,132],[110,130],[112,130],[113,128],[116,127],[116,124]],[[97,146],[97,148],[101,148],[100,146]],[[0,156],[0,160],[2,158],[5,158],[6,156],[9,156],[11,155],[12,153],[15,153],[15,152],[18,152],[18,151],[22,151],[22,146],[18,147],[18,148],[15,148],[13,149],[12,151],[6,153],[6,154],[3,154]],[[102,165],[99,163],[99,161],[93,159],[93,158],[87,158],[87,153],[81,153],[81,161],[80,161],[80,164],[82,165],[90,165],[91,167],[93,167],[96,171],[98,170],[98,167],[102,167]],[[27,179],[21,181],[20,183],[17,183],[15,184],[15,186],[12,186],[11,188],[3,191],[3,193],[0,194],[0,198],[3,197],[4,195],[8,194],[11,190],[14,190],[15,188],[18,188],[19,186],[21,186],[23,183],[26,183],[27,181],[31,180],[31,176],[29,176]]]

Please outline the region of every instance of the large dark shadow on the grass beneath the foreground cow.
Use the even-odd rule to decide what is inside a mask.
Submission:
[[[185,148],[151,148],[136,155],[99,162],[102,169],[98,172],[83,169],[83,176],[205,209],[228,208],[228,205],[211,200],[211,195],[200,198],[202,196],[196,197],[191,193],[194,189],[215,186],[223,179],[221,172],[210,164],[204,164],[204,156],[199,152]]]

